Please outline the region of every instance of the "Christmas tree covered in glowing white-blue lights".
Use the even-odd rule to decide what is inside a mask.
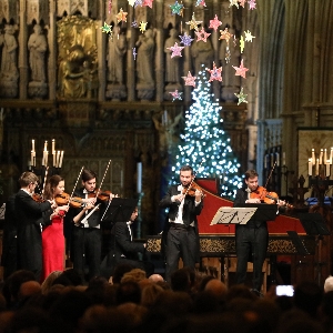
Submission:
[[[173,174],[182,165],[191,165],[198,178],[220,178],[221,196],[233,199],[242,186],[239,176],[240,164],[230,147],[230,138],[221,129],[220,110],[204,71],[199,72],[196,87],[192,92],[193,104],[185,112],[185,129],[181,143],[175,149]],[[179,181],[174,176],[173,181]]]

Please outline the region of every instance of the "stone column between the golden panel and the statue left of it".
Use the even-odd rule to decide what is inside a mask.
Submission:
[[[48,33],[49,42],[49,61],[48,61],[48,71],[49,71],[49,99],[54,101],[57,98],[57,3],[56,0],[50,0],[50,29]]]

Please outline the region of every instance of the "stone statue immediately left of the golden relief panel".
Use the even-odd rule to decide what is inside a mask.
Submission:
[[[29,63],[32,81],[46,82],[44,58],[48,42],[39,24],[33,27],[33,33],[28,41],[28,49],[30,51]]]

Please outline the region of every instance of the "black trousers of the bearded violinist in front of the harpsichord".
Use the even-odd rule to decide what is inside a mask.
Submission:
[[[178,270],[180,258],[184,266],[195,268],[196,260],[196,234],[193,226],[178,229],[171,226],[167,235],[167,270],[165,280],[170,282],[171,274]]]

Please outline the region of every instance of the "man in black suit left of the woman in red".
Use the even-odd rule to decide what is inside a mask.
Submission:
[[[16,195],[14,209],[18,222],[18,269],[32,271],[40,282],[42,272],[41,225],[52,223],[50,216],[56,204],[51,200],[36,202],[32,194],[38,176],[23,172],[19,179],[21,189]]]

